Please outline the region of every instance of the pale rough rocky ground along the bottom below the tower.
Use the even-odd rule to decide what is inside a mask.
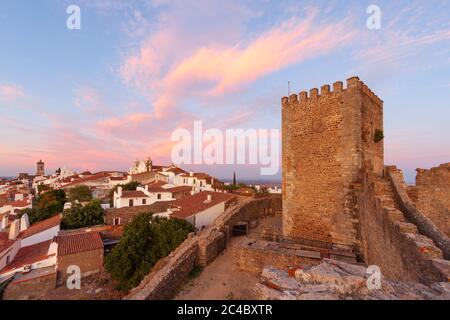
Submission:
[[[428,287],[381,277],[381,288],[369,290],[373,277],[366,272],[365,266],[330,259],[289,273],[266,267],[254,294],[262,300],[450,300],[449,282]]]

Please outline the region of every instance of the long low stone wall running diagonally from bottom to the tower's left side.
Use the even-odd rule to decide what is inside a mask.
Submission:
[[[240,198],[220,215],[213,225],[190,235],[169,256],[161,259],[127,300],[170,299],[195,266],[206,266],[226,248],[234,223],[251,221],[281,209],[281,197]]]

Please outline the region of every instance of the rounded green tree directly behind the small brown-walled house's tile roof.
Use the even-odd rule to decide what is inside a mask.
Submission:
[[[98,200],[92,200],[85,206],[72,204],[72,208],[64,211],[61,220],[62,229],[78,229],[92,227],[104,223],[103,208]]]

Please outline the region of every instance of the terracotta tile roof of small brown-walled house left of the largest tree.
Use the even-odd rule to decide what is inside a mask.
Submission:
[[[60,235],[54,238],[58,243],[58,256],[103,249],[99,232],[83,232]]]

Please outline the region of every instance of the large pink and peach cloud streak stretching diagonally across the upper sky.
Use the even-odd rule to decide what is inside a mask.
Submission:
[[[273,72],[342,47],[355,38],[350,21],[321,25],[317,12],[290,19],[246,43],[221,41],[179,50],[169,28],[144,41],[120,68],[127,83],[151,92],[155,117],[174,114],[189,98],[223,96]]]

